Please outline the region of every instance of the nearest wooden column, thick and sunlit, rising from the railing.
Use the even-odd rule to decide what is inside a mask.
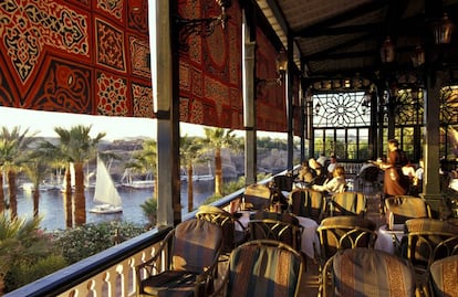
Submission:
[[[148,1],[154,112],[157,118],[157,226],[181,221],[179,191],[178,50],[170,10],[174,1]],[[157,30],[156,30],[157,29]],[[175,44],[178,44],[175,42]],[[174,47],[175,46],[175,47]],[[174,81],[176,83],[174,83]],[[176,99],[174,100],[174,98]],[[175,106],[177,105],[177,106]],[[170,153],[171,152],[171,153]]]

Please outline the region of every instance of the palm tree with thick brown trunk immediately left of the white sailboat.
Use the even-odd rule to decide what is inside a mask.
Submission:
[[[74,192],[74,219],[76,225],[86,223],[86,200],[84,197],[84,163],[97,153],[97,145],[105,132],[100,132],[95,138],[91,138],[91,126],[73,126],[70,129],[55,127],[54,131],[60,137],[58,148],[67,163],[73,163],[75,172],[75,192]],[[70,167],[67,166],[67,169]],[[65,171],[65,176],[70,170]],[[67,179],[67,177],[66,177]],[[69,179],[67,179],[69,181]]]

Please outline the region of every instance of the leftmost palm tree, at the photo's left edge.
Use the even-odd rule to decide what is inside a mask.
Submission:
[[[18,126],[13,127],[11,131],[7,127],[2,127],[0,130],[0,139],[2,144],[2,149],[0,150],[0,165],[1,169],[7,172],[8,177],[11,220],[15,220],[18,218],[18,189],[15,184],[17,172],[21,170],[21,166],[28,160],[28,147],[34,141],[34,135],[35,134],[29,135],[29,129],[21,132],[21,128]],[[4,197],[3,201],[0,203],[3,203],[4,205]]]

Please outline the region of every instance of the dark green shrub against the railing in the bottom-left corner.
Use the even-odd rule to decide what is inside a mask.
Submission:
[[[27,284],[33,283],[46,275],[67,266],[65,259],[59,255],[51,255],[35,263],[22,262],[10,268],[4,277],[4,286],[7,291],[14,290]]]

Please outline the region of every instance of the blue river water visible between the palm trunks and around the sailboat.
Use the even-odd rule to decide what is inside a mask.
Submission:
[[[208,197],[212,195],[215,190],[214,181],[199,181],[194,184],[194,206],[198,208]],[[131,189],[118,188],[123,199],[123,212],[115,214],[96,214],[86,212],[87,223],[126,221],[138,224],[146,224],[147,220],[143,215],[140,204],[153,195],[152,189]],[[6,194],[8,197],[8,193]],[[86,210],[90,210],[94,203],[92,198],[94,189],[86,190]],[[187,184],[181,184],[181,205],[183,214],[187,213],[188,194]],[[32,218],[33,201],[32,193],[18,190],[18,215],[20,218]],[[40,215],[43,216],[41,226],[48,231],[65,229],[65,216],[63,208],[63,194],[60,191],[41,191],[40,192]]]

